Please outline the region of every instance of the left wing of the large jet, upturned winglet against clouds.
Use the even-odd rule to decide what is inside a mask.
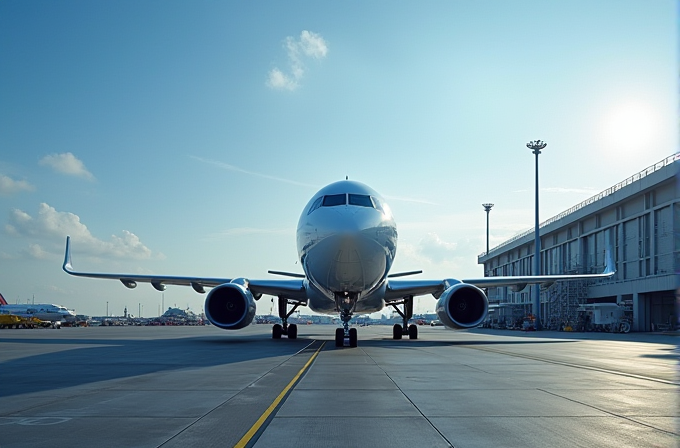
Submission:
[[[213,277],[178,277],[168,275],[139,275],[139,274],[108,274],[97,272],[81,272],[73,269],[71,264],[71,237],[66,237],[66,253],[64,255],[64,272],[78,277],[102,278],[109,280],[119,280],[128,288],[135,288],[137,283],[150,283],[156,290],[164,291],[166,285],[191,286],[198,293],[205,293],[205,288],[230,283],[231,278]],[[248,288],[253,296],[260,298],[262,294],[286,297],[300,302],[306,302],[305,294],[306,280],[247,280]]]

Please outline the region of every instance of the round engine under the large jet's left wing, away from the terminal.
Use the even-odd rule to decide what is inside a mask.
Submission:
[[[247,327],[255,317],[255,298],[241,284],[217,286],[205,298],[205,316],[216,327],[238,330]]]

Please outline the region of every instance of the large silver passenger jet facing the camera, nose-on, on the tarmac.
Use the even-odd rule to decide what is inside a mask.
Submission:
[[[467,329],[480,325],[487,316],[489,301],[482,288],[510,286],[519,291],[528,284],[604,279],[615,273],[608,250],[601,274],[402,279],[422,271],[390,273],[397,252],[397,226],[390,207],[375,190],[350,180],[327,185],[312,196],[302,210],[296,233],[304,273],[268,271],[288,279],[80,272],[71,263],[69,236],[62,269],[74,276],[119,280],[128,288],[140,282],[150,283],[158,291],[164,291],[167,285],[191,286],[198,293],[212,288],[205,299],[205,315],[225,330],[248,326],[262,295],[278,297],[281,324],[272,327],[274,339],[282,335],[297,338],[297,325],[288,324],[288,318],[300,306],[322,314],[339,314],[342,328],[335,332],[337,347],[357,346],[357,329],[350,328],[354,314],[372,313],[386,306],[393,307],[403,321],[393,326],[393,339],[417,339],[418,327],[409,325],[417,296],[431,294],[437,299],[437,316],[445,326]]]

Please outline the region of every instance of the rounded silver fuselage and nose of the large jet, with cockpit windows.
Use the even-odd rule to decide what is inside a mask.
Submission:
[[[297,249],[312,310],[336,314],[384,308],[397,226],[373,189],[353,181],[321,189],[302,211]]]

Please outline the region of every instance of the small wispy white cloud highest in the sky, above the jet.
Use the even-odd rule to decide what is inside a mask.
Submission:
[[[278,67],[273,68],[267,77],[267,86],[278,90],[295,90],[305,74],[306,59],[323,59],[328,54],[328,44],[320,34],[304,30],[295,39],[288,36],[284,41],[288,55],[290,73],[284,73]]]

